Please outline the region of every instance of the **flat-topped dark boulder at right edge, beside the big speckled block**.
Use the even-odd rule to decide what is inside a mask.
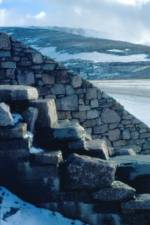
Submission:
[[[150,193],[150,155],[116,156],[111,160],[117,164],[117,179],[140,193]]]

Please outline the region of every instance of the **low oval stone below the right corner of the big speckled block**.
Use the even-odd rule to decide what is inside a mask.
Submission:
[[[104,188],[95,192],[93,198],[99,201],[124,201],[133,199],[136,190],[120,181],[114,181],[111,187]]]

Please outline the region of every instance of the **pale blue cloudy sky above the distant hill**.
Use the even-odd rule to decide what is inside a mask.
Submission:
[[[0,26],[95,29],[103,38],[150,44],[150,0],[0,0]]]

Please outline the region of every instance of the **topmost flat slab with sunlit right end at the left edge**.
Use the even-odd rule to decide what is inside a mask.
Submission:
[[[38,91],[25,85],[0,85],[0,101],[30,101],[38,99]]]

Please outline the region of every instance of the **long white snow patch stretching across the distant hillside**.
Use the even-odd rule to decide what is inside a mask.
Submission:
[[[149,58],[147,58],[146,54],[133,54],[133,55],[116,55],[113,53],[120,53],[122,50],[119,49],[110,49],[110,53],[99,53],[99,52],[84,52],[84,53],[78,53],[78,54],[70,54],[67,52],[57,52],[56,47],[46,47],[46,48],[38,48],[36,46],[33,46],[40,50],[42,54],[47,55],[59,62],[64,62],[71,59],[81,59],[81,60],[90,60],[94,63],[102,62],[102,63],[109,63],[109,62],[122,62],[122,63],[128,63],[128,62],[144,62],[144,61],[150,61]]]

